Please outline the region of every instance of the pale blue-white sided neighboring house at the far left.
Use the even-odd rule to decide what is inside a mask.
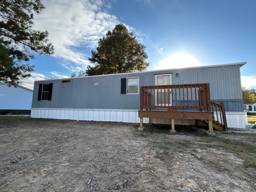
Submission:
[[[12,114],[30,114],[33,90],[21,85],[8,85],[0,83],[0,113],[11,111]]]

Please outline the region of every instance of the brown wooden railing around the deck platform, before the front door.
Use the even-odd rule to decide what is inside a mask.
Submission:
[[[178,84],[140,87],[143,108],[200,109],[211,111],[210,84]]]

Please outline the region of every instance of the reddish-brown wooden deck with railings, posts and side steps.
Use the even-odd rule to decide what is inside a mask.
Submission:
[[[173,130],[174,119],[204,121],[210,133],[228,130],[224,103],[211,101],[209,83],[141,86],[139,117],[141,128],[143,117],[153,117],[172,119]]]

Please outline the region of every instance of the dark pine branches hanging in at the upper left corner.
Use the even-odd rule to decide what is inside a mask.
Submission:
[[[34,12],[44,9],[42,0],[0,0],[0,82],[20,84],[29,77],[34,56],[53,54],[48,32],[34,30]]]

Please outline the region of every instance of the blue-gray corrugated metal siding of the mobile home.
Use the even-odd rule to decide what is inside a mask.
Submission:
[[[71,83],[64,84],[58,79],[37,81],[32,108],[139,109],[139,94],[120,93],[121,78],[140,77],[140,86],[150,86],[155,85],[154,74],[164,73],[172,73],[172,84],[210,83],[211,100],[225,102],[226,111],[243,111],[239,65],[72,78]],[[42,83],[53,83],[52,101],[37,101],[38,86]]]

